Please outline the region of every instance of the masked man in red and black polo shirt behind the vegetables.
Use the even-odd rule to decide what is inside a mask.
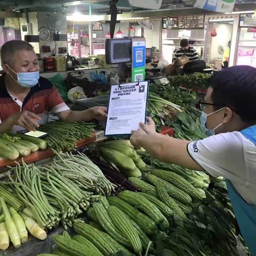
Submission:
[[[72,111],[46,78],[39,77],[36,53],[31,44],[12,40],[1,49],[4,74],[0,77],[0,133],[35,131],[48,122],[49,112],[63,121],[105,119],[106,107]]]

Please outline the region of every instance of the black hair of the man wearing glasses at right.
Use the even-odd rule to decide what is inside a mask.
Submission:
[[[208,81],[214,104],[230,107],[246,123],[256,122],[256,68],[234,66],[216,72]]]

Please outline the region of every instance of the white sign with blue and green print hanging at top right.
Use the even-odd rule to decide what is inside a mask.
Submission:
[[[197,0],[194,7],[213,12],[233,12],[235,0]]]

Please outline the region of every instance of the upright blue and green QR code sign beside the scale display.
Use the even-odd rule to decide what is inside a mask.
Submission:
[[[132,38],[132,82],[145,80],[146,41],[143,37]]]

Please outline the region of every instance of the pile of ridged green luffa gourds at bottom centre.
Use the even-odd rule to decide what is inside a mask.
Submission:
[[[133,253],[142,255],[142,252],[154,252],[151,247],[152,242],[146,232],[156,234],[156,223],[167,229],[168,221],[162,212],[143,196],[137,198],[133,193],[137,194],[132,191],[123,191],[122,193],[131,193],[129,198],[147,213],[140,212],[119,197],[106,199],[101,196],[100,202],[94,203],[87,210],[87,214],[93,220],[90,222],[91,225],[76,221],[73,226],[79,235],[72,238],[64,235],[53,236],[54,242],[58,246],[54,250],[54,255],[63,255],[62,253],[64,253],[65,255],[107,256],[122,251],[125,255],[132,256]],[[122,193],[119,196],[126,197]],[[139,202],[139,199],[142,201]]]

